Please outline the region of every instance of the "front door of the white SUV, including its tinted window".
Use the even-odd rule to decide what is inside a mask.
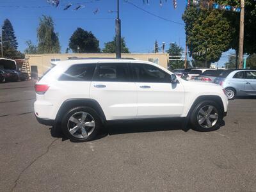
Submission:
[[[138,92],[137,118],[180,116],[184,109],[184,88],[170,83],[170,74],[154,65],[132,63]]]

